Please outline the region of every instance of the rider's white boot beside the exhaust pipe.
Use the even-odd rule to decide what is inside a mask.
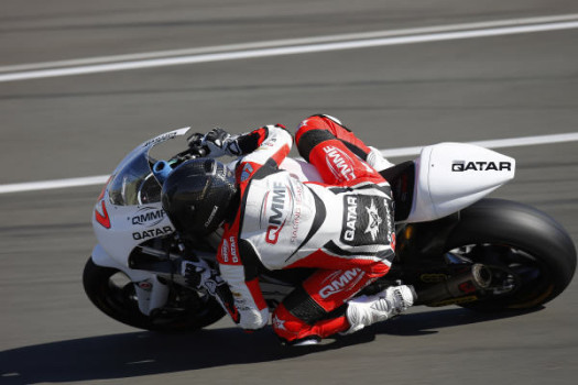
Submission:
[[[402,314],[414,304],[416,297],[413,286],[401,285],[389,287],[373,296],[349,300],[346,317],[351,327],[343,334]]]

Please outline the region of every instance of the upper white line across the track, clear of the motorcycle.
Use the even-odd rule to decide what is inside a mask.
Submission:
[[[86,75],[116,70],[165,67],[185,64],[296,55],[386,45],[440,42],[521,33],[578,29],[578,14],[513,19],[482,23],[430,26],[411,30],[378,31],[360,34],[320,36],[302,40],[249,43],[240,45],[167,51],[77,61],[24,64],[0,67],[0,82]],[[220,52],[223,51],[223,52]],[[175,57],[176,56],[176,57]],[[73,65],[73,66],[69,66]],[[54,68],[68,66],[64,68]],[[24,70],[40,68],[36,70]],[[7,73],[8,70],[12,70]],[[17,72],[14,72],[17,70]],[[20,72],[19,72],[20,70]]]

